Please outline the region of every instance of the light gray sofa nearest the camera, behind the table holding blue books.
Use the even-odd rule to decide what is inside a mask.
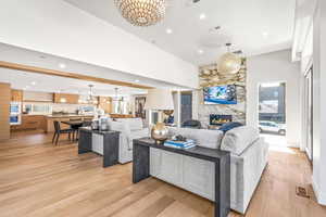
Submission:
[[[244,214],[267,164],[268,145],[256,129],[220,130],[170,128],[198,145],[231,152],[230,207]],[[214,201],[214,164],[203,159],[150,149],[150,175]]]

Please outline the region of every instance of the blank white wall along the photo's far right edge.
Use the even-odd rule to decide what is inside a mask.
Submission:
[[[313,187],[326,205],[326,1],[318,0],[314,16],[313,53]]]

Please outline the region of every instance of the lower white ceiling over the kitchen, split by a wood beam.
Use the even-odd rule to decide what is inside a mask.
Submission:
[[[170,88],[170,89],[185,89],[173,84],[158,81],[131,74],[117,72],[104,67],[99,67],[68,59],[63,59],[46,53],[30,51],[4,43],[0,43],[0,60],[26,64],[30,66],[38,66],[49,69],[57,69],[71,73],[96,73],[97,75],[110,75],[109,79],[139,84],[149,87]],[[60,65],[64,64],[65,68]],[[87,94],[89,91],[88,85],[95,85],[93,92],[98,95],[114,95],[114,88],[118,88],[120,95],[128,94],[143,94],[147,90],[121,86],[112,86],[101,82],[90,82],[86,80],[64,78],[58,76],[48,76],[28,72],[21,72],[0,67],[0,82],[10,82],[14,89],[26,89],[30,91],[43,92],[65,92]],[[36,82],[35,85],[33,85]]]

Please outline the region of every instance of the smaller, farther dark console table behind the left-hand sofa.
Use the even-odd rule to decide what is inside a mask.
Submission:
[[[100,131],[90,127],[79,128],[78,154],[93,152],[103,156],[103,167],[117,164],[118,131]]]

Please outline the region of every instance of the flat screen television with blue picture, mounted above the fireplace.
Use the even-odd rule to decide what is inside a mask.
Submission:
[[[203,89],[204,104],[237,104],[235,85],[209,87]]]

